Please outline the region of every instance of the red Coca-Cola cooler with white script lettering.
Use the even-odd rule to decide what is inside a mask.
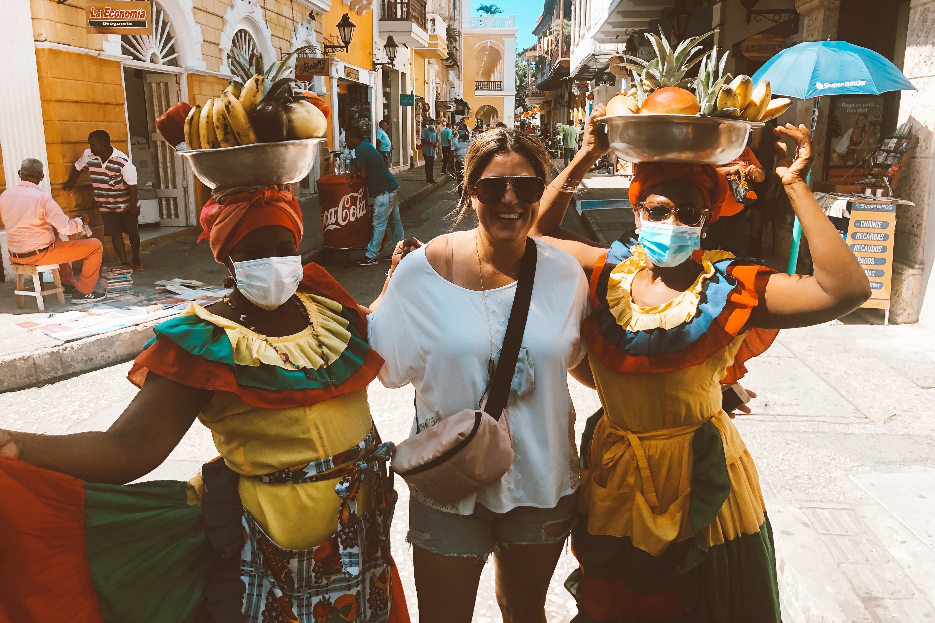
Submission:
[[[317,184],[325,258],[333,251],[343,251],[347,267],[351,264],[351,251],[367,248],[373,236],[367,180],[342,173],[319,177]]]

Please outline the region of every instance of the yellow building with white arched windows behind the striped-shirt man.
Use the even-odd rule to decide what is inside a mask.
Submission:
[[[380,108],[374,104],[381,83],[374,71],[379,21],[371,2],[153,0],[153,31],[146,36],[89,34],[86,0],[0,2],[0,55],[7,67],[0,191],[18,183],[24,158],[38,158],[48,173],[42,187],[67,214],[90,211],[100,237],[87,176],[72,192],[62,183],[87,148],[88,134],[103,129],[137,166],[143,247],[194,233],[207,189],[156,132],[156,118],[180,100],[194,105],[216,96],[234,78],[227,61],[232,50],[257,51],[268,65],[299,47],[338,44],[336,24],[347,13],[356,26],[350,49],[332,54],[327,75],[305,86],[331,103],[329,148],[350,120],[375,133],[381,115],[371,107]],[[313,191],[319,175],[316,167],[302,191]],[[113,259],[110,245],[104,248],[105,260]],[[7,262],[3,229],[0,252]]]

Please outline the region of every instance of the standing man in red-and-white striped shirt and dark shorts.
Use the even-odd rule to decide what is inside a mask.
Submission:
[[[94,130],[88,135],[88,146],[90,149],[84,150],[62,188],[71,191],[82,171],[87,170],[91,174],[94,201],[104,220],[104,235],[110,236],[117,257],[125,265],[129,262],[126,261],[123,234],[127,234],[133,251],[133,269],[143,270],[143,262],[139,259],[137,230],[137,167],[125,153],[110,145],[110,135],[104,130]]]

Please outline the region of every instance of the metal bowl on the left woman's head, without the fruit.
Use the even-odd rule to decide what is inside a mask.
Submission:
[[[180,151],[209,189],[293,184],[309,175],[324,138]]]

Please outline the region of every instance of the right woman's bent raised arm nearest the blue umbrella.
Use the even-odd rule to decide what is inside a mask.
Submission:
[[[756,307],[751,324],[766,329],[808,327],[854,311],[870,298],[870,281],[805,183],[812,159],[812,135],[804,125],[797,128],[791,123],[773,132],[796,141],[795,158],[787,157],[784,142],[776,143],[783,159],[776,165],[776,175],[809,241],[814,276],[771,275],[766,304]]]

